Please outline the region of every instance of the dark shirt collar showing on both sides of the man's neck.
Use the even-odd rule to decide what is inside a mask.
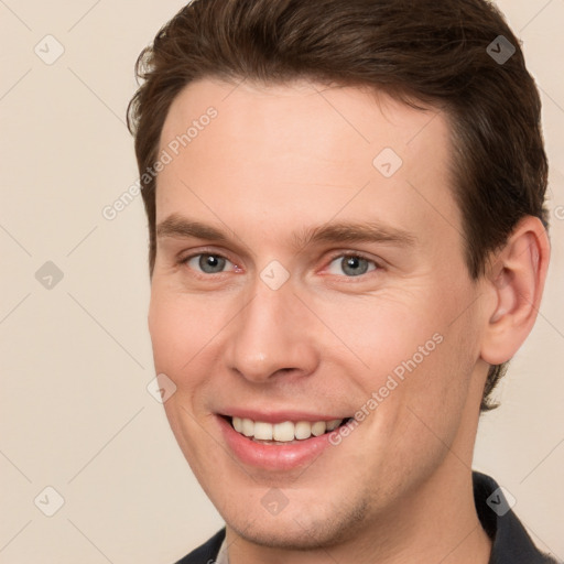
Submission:
[[[509,508],[497,482],[485,474],[473,473],[474,501],[485,531],[492,541],[489,564],[557,564],[534,546],[523,525]],[[225,528],[176,564],[215,562],[225,539]]]

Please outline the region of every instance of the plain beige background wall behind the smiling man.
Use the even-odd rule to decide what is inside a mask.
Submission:
[[[564,0],[499,3],[542,89],[553,259],[475,467],[564,558]],[[221,527],[145,388],[141,198],[111,221],[101,214],[137,180],[133,63],[182,6],[0,0],[0,563],[172,563]],[[52,65],[34,52],[56,54],[47,34],[65,50]],[[64,274],[51,290],[35,278],[47,261]],[[53,517],[47,486],[65,501]]]

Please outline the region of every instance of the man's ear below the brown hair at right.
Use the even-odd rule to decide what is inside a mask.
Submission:
[[[533,328],[549,269],[550,242],[536,217],[519,221],[488,269],[481,358],[490,365],[509,360]]]

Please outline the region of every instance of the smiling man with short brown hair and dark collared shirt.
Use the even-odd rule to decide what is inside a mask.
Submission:
[[[195,0],[138,70],[155,368],[226,521],[181,562],[553,562],[471,471],[550,253],[499,12]]]

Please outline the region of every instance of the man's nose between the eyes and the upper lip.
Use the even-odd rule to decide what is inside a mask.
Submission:
[[[319,361],[312,314],[290,282],[272,290],[261,280],[230,325],[226,361],[250,382],[297,379]]]

